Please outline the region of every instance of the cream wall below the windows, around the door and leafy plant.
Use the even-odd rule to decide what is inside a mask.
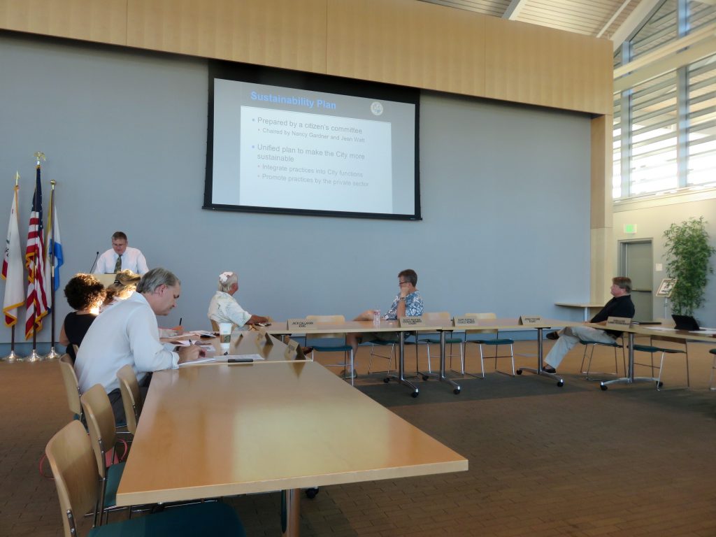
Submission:
[[[664,256],[664,231],[672,223],[681,223],[689,218],[704,216],[708,225],[710,243],[716,247],[716,198],[713,194],[692,194],[678,197],[657,198],[639,203],[617,206],[614,211],[614,238],[616,246],[619,241],[649,239],[652,241],[654,269],[653,289],[659,289],[662,279],[667,278],[666,257]],[[637,233],[624,233],[624,224],[636,224]],[[618,256],[615,256],[618,259]],[[711,258],[711,266],[716,266],[716,256]],[[657,263],[662,263],[662,270],[657,271]],[[716,326],[716,275],[709,277],[705,292],[705,303],[695,312],[695,317],[702,326]],[[664,316],[664,299],[654,296],[654,317]],[[670,315],[671,312],[668,312]]]

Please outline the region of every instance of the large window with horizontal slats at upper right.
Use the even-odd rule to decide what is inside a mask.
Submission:
[[[715,21],[716,6],[664,0],[616,52],[614,66],[658,51]],[[716,55],[614,95],[615,199],[716,188],[715,172]]]

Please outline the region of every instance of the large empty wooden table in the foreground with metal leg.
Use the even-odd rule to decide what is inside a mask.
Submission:
[[[468,469],[321,364],[273,356],[155,372],[117,505],[281,490],[281,529],[298,536],[301,488]]]

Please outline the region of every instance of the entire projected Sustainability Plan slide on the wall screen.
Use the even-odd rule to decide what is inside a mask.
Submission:
[[[419,218],[414,102],[211,83],[205,206]]]

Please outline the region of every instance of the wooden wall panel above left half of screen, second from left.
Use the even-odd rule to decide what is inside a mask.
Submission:
[[[130,47],[326,70],[326,0],[127,1]]]

